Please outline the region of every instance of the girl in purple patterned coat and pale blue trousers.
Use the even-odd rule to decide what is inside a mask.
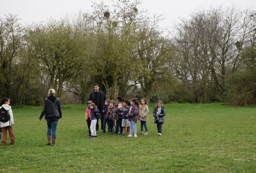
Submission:
[[[136,122],[138,120],[138,106],[139,103],[136,99],[131,99],[130,101],[131,103],[131,108],[129,110],[128,113],[128,118],[129,118],[129,125],[130,125],[130,134],[128,135],[128,137],[132,137],[132,131],[134,131],[134,138],[137,138],[137,127],[136,127]]]

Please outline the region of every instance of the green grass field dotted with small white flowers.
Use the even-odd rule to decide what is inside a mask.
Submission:
[[[256,172],[253,106],[165,104],[161,137],[150,113],[148,136],[99,131],[90,139],[84,106],[64,105],[56,147],[46,145],[41,109],[12,107],[17,140],[0,145],[0,172]]]

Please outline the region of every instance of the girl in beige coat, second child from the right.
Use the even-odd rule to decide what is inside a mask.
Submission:
[[[143,126],[145,127],[145,135],[149,134],[149,131],[147,130],[147,118],[149,113],[149,107],[147,106],[147,100],[145,98],[142,98],[140,100],[140,133],[143,133]]]

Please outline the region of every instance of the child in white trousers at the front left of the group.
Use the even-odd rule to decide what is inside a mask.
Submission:
[[[95,103],[91,103],[91,138],[97,138],[96,124],[97,118],[99,118],[99,110],[96,108]]]

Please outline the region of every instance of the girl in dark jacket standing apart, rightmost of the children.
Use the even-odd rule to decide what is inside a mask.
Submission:
[[[156,103],[153,116],[155,118],[155,123],[157,124],[158,136],[162,136],[162,125],[164,122],[163,117],[165,116],[165,108],[163,107],[163,102],[161,100],[158,100]]]

